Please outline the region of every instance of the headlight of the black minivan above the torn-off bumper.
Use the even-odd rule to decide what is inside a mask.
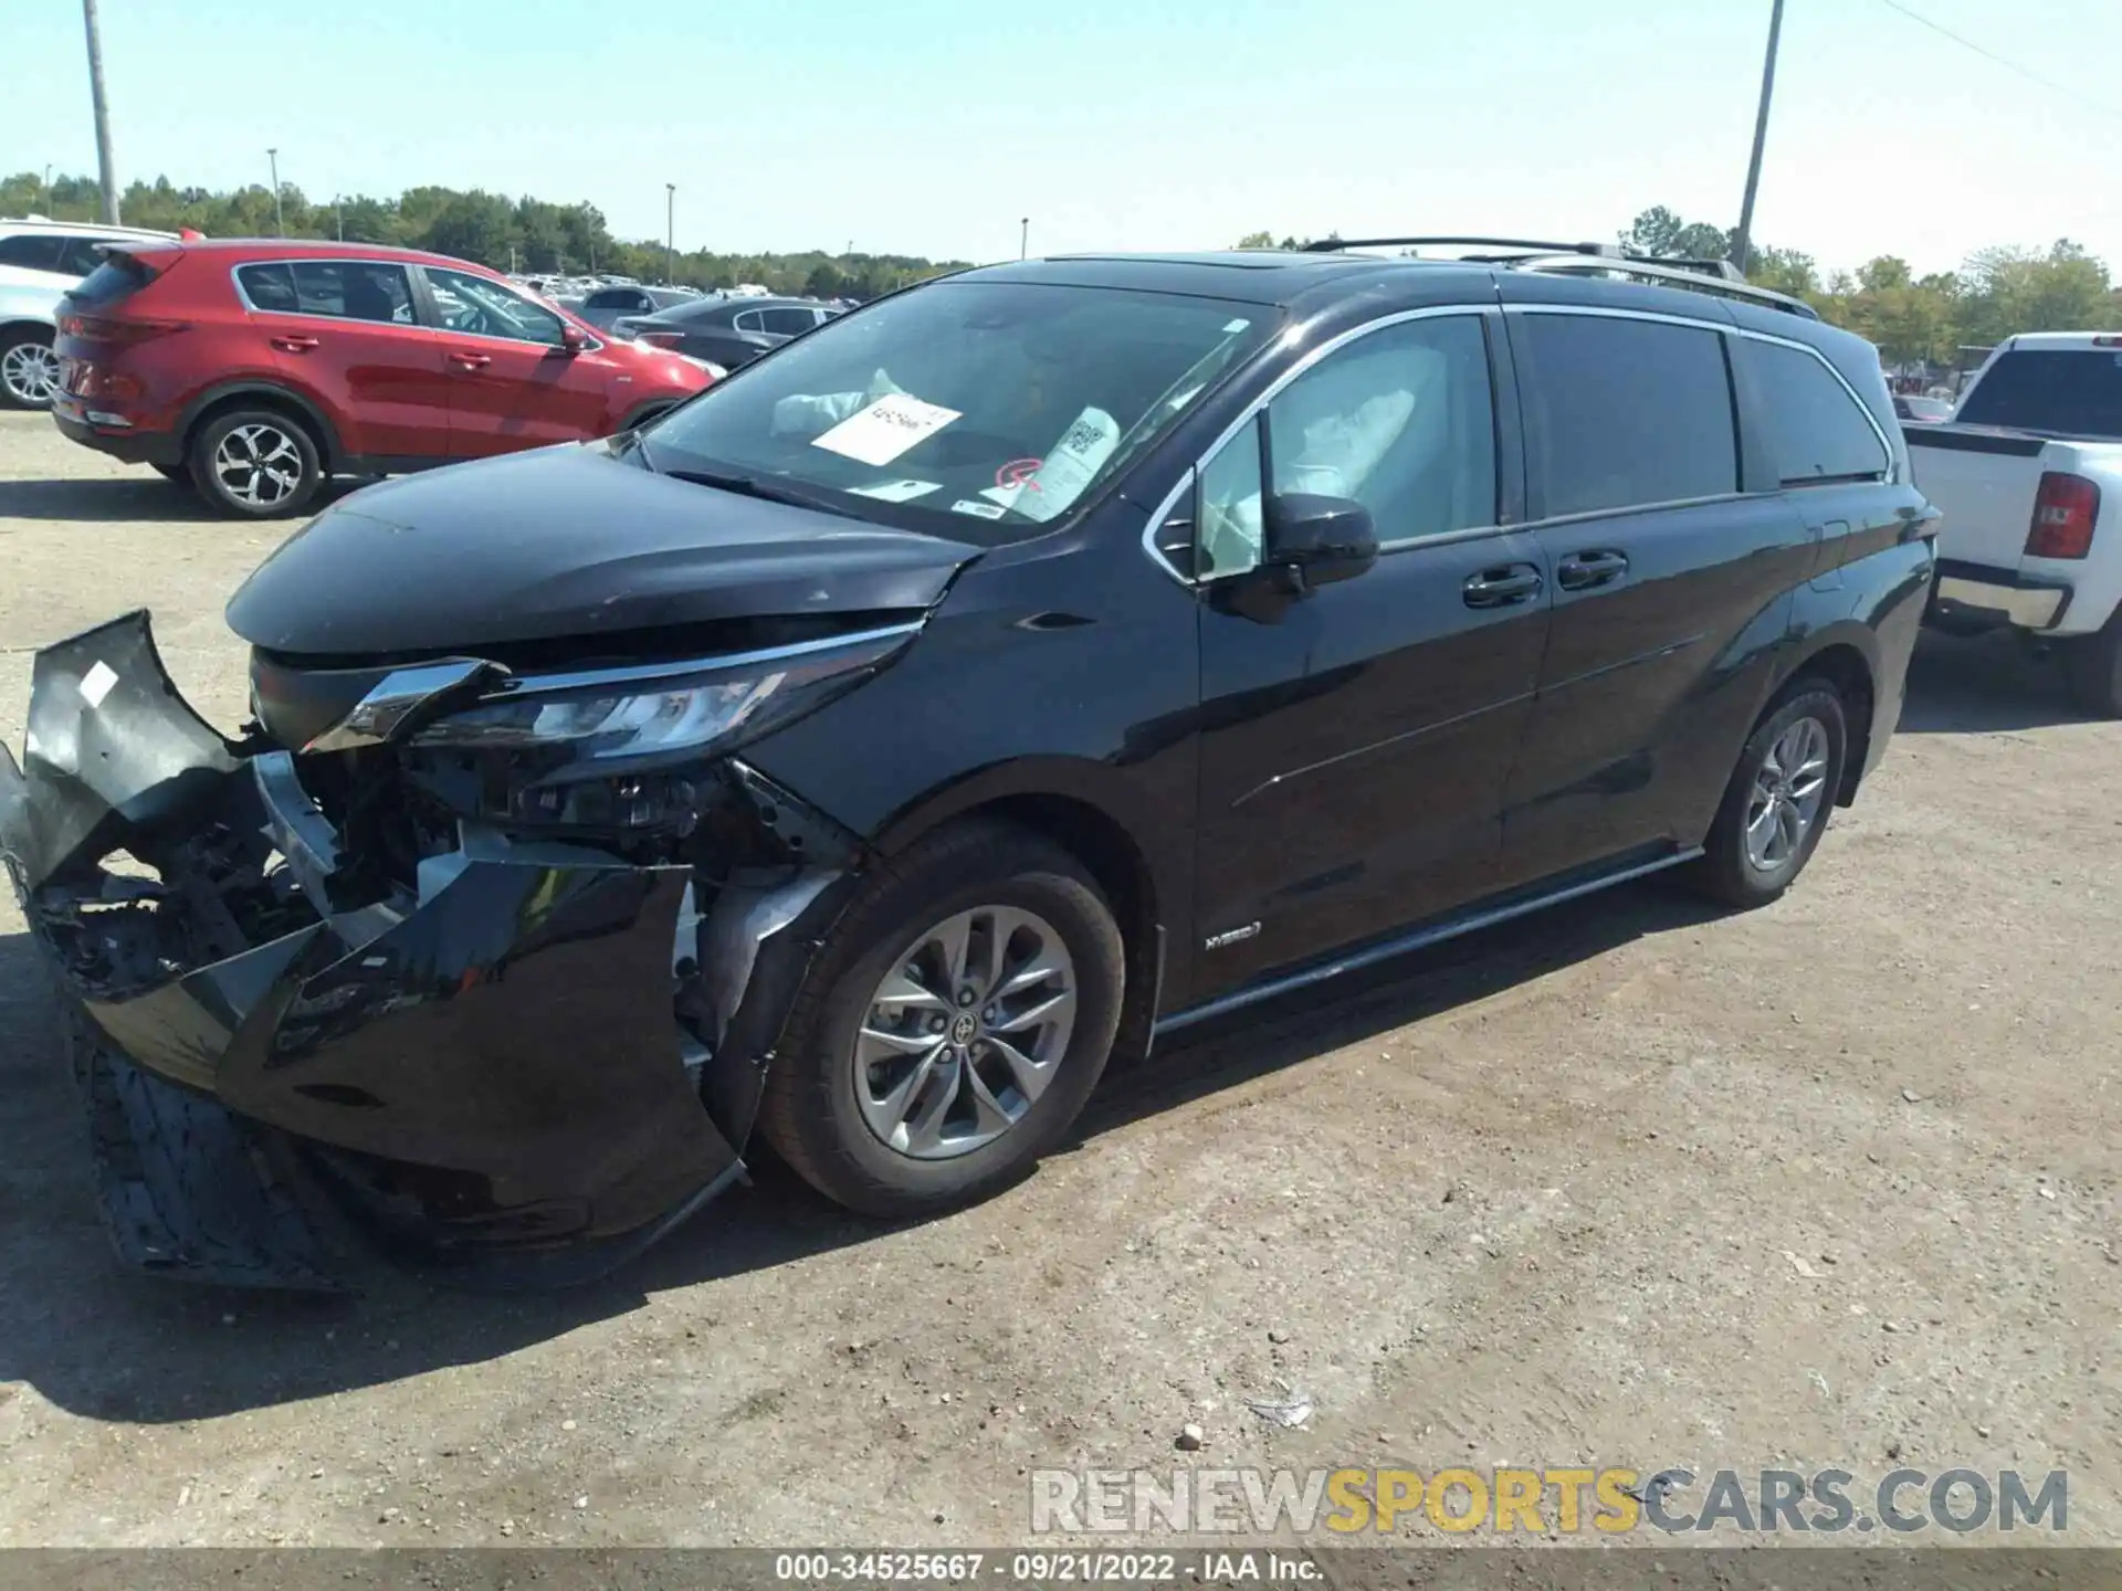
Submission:
[[[480,817],[624,832],[690,832],[709,757],[862,683],[915,626],[694,664],[524,675],[410,738],[454,764]],[[450,781],[454,783],[454,781]]]

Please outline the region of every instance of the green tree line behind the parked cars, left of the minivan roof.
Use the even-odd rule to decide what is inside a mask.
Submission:
[[[93,221],[102,189],[91,176],[38,172],[0,178],[0,216],[47,214],[53,221]],[[121,195],[127,227],[176,231],[193,227],[208,238],[272,238],[278,231],[274,193],[263,182],[214,193],[174,187],[159,176],[134,182]],[[717,255],[707,248],[666,261],[654,240],[620,240],[592,204],[509,199],[480,189],[405,189],[395,199],[348,195],[312,199],[293,182],[280,185],[280,214],[289,238],[344,238],[365,244],[427,248],[494,269],[581,276],[613,272],[641,282],[673,280],[683,286],[730,289],[758,282],[772,293],[808,293],[821,299],[870,299],[879,293],[959,269],[961,261],[915,255]]]

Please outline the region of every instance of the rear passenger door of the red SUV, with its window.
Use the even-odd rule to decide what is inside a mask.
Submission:
[[[418,325],[405,265],[255,261],[236,267],[236,289],[259,356],[331,418],[344,454],[448,456],[450,378],[437,333]]]

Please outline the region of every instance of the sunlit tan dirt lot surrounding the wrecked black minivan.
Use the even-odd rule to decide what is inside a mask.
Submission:
[[[140,605],[233,725],[278,535],[0,416],[0,732]],[[2122,1540],[2118,772],[2039,668],[1927,641],[1770,910],[1562,908],[1163,1050],[982,1209],[768,1167],[564,1296],[121,1273],[6,899],[0,1544],[993,1544],[1027,1468],[1188,1421],[1212,1464],[2067,1468]],[[1277,1377],[1307,1428],[1248,1413]]]

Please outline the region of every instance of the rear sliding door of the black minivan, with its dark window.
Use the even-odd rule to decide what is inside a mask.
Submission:
[[[1504,798],[1511,882],[1685,832],[1693,791],[1729,776],[1732,723],[1759,702],[1816,556],[1742,460],[1729,318],[1691,314],[1507,305],[1532,535],[1555,581]]]

